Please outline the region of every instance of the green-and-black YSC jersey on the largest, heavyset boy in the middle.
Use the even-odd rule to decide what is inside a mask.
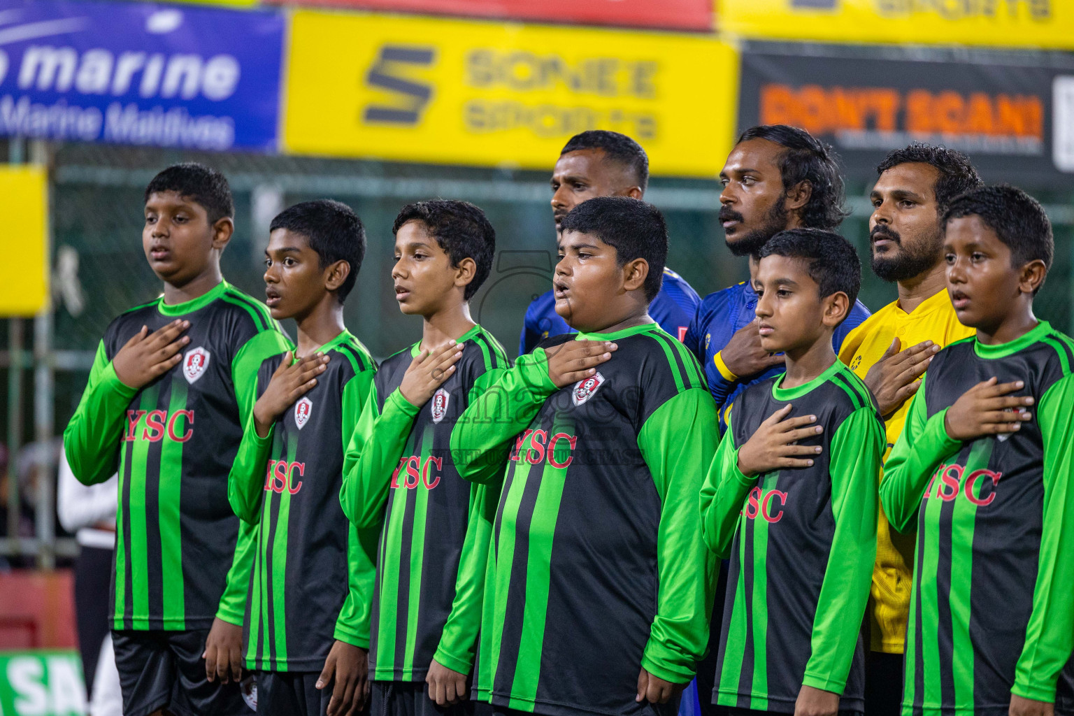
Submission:
[[[619,349],[557,389],[548,354],[576,338]],[[633,716],[652,708],[635,701],[642,668],[694,676],[715,585],[697,493],[719,439],[697,361],[655,323],[550,338],[470,406],[451,440],[460,473],[495,480],[507,466],[478,698]]]

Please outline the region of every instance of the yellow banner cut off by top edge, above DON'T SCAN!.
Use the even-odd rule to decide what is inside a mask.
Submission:
[[[719,0],[744,38],[1074,48],[1071,0]]]

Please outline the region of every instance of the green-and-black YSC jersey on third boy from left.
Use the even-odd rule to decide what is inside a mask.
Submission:
[[[361,528],[383,525],[369,635],[376,681],[422,681],[434,656],[460,673],[474,664],[499,491],[459,477],[451,429],[508,362],[479,325],[459,342],[455,372],[420,407],[398,390],[419,344],[387,359],[347,451],[344,512]]]

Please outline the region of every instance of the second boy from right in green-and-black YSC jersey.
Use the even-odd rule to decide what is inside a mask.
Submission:
[[[761,347],[787,370],[735,400],[700,500],[706,542],[730,558],[712,698],[732,715],[865,708],[884,424],[831,347],[860,284],[838,234],[793,229],[761,249]]]

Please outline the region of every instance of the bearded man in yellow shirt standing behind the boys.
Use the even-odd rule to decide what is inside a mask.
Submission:
[[[952,199],[982,181],[966,155],[923,144],[890,152],[876,171],[870,194],[872,269],[898,284],[899,298],[851,332],[839,357],[876,397],[887,430],[886,459],[932,356],[973,335],[958,322],[947,296],[940,217]],[[914,537],[891,530],[881,512],[869,600],[866,716],[900,712],[913,568]]]

